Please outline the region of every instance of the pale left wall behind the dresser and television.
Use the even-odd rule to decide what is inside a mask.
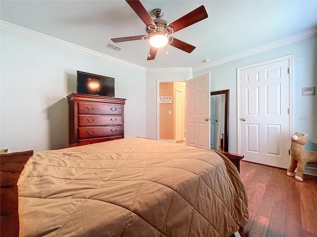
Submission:
[[[125,98],[125,136],[146,135],[146,73],[1,30],[0,150],[43,151],[68,146],[68,103],[76,73],[115,79]]]

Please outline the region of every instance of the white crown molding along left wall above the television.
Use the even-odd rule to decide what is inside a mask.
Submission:
[[[136,69],[136,70],[139,70],[141,72],[146,72],[145,67],[141,67],[139,65],[129,63],[127,61],[120,60],[120,59],[108,56],[108,55],[103,54],[103,53],[96,52],[94,50],[91,50],[91,49],[88,49],[88,48],[85,48],[85,47],[82,47],[82,46],[79,46],[79,45],[76,45],[76,44],[73,44],[73,43],[70,43],[70,42],[67,42],[64,40],[54,38],[52,36],[48,36],[48,35],[30,30],[30,29],[26,29],[24,27],[14,25],[12,23],[9,23],[9,22],[3,21],[3,20],[0,20],[0,29],[7,31],[7,32],[17,34],[17,35],[25,36],[25,37],[28,37],[28,38],[31,38],[34,40],[39,40],[42,42],[50,43],[50,44],[53,44],[53,45],[56,45],[56,46],[59,46],[62,48],[66,48],[66,49],[69,49],[69,50],[72,50],[75,52],[79,52],[79,53],[82,53],[82,54],[85,54],[88,56],[92,56],[92,57],[95,57],[95,58],[98,58],[101,60],[115,63],[115,64],[118,64],[118,65],[121,65],[124,67]]]

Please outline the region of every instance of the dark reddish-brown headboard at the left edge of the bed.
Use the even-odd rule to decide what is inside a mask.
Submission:
[[[16,183],[24,164],[32,156],[33,151],[1,154],[0,156],[1,236],[19,236],[18,187]]]

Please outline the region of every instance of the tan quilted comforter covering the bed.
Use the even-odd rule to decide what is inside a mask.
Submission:
[[[229,237],[248,219],[228,159],[144,138],[37,152],[18,189],[22,237]]]

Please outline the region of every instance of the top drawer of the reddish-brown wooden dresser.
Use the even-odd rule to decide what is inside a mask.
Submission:
[[[122,115],[122,106],[78,103],[78,114]]]

